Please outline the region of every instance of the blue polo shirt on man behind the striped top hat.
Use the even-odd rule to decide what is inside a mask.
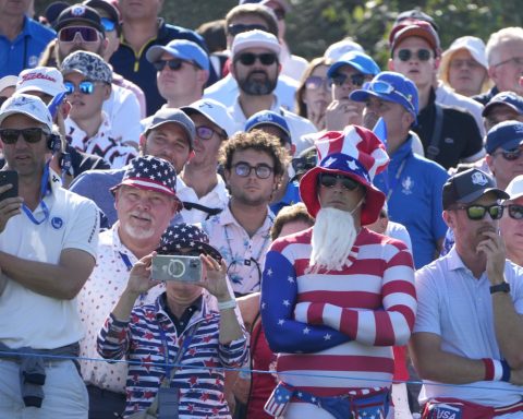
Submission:
[[[411,236],[416,270],[434,260],[437,241],[447,231],[441,193],[448,177],[440,165],[412,152],[410,137],[374,180],[388,196],[389,218],[405,226]]]

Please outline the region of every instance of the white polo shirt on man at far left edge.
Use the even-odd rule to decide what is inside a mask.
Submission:
[[[98,208],[86,197],[60,188],[58,177],[44,197],[49,217],[36,225],[22,212],[0,234],[0,251],[29,261],[58,264],[65,249],[96,258]],[[45,217],[41,205],[33,213]],[[60,300],[34,292],[8,277],[0,295],[0,342],[10,348],[54,349],[82,339],[76,299]]]

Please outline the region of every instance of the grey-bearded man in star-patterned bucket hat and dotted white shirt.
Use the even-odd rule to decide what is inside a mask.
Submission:
[[[133,265],[160,244],[171,218],[180,210],[175,194],[177,172],[167,160],[143,156],[131,161],[122,181],[113,187],[118,222],[100,235],[98,261],[78,296],[78,309],[86,337],[82,357],[99,358],[96,337],[127,285]],[[163,290],[155,287],[137,303],[150,303]],[[89,418],[108,418],[121,414],[125,404],[123,363],[82,362],[82,375],[89,391]]]

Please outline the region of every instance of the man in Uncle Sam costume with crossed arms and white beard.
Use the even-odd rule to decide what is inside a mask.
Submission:
[[[280,380],[266,410],[285,419],[385,418],[392,346],[406,344],[416,312],[406,246],[363,227],[384,205],[372,180],[388,156],[357,125],[327,132],[316,148],[319,163],[300,183],[316,224],[276,240],[266,256],[262,320]]]

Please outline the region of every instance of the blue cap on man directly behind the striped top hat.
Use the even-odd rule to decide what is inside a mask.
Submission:
[[[378,97],[403,106],[416,120],[419,111],[416,85],[403,74],[393,71],[384,71],[361,89],[354,91],[349,96],[354,101],[367,101],[368,96]]]

